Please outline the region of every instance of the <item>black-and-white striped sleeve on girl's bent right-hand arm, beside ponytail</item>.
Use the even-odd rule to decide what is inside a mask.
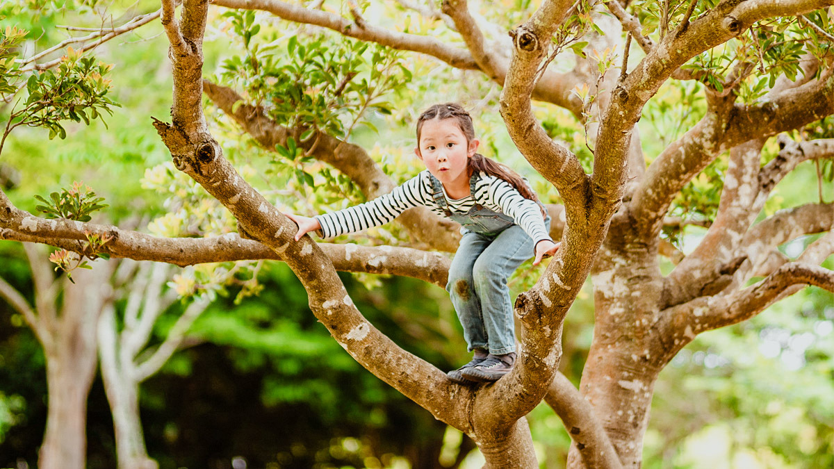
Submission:
[[[494,178],[487,191],[485,207],[510,215],[533,239],[533,245],[540,240],[553,240],[545,227],[541,208],[533,200],[525,199],[518,190],[504,179]]]

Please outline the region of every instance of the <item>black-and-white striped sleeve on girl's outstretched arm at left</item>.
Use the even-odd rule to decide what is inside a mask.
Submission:
[[[418,174],[388,194],[380,195],[369,202],[329,214],[316,215],[314,218],[321,224],[322,237],[333,238],[386,224],[405,209],[425,205],[422,194],[425,189],[421,190],[420,180]]]

